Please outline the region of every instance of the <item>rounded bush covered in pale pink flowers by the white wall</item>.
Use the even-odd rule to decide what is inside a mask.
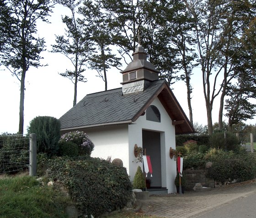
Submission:
[[[60,137],[59,142],[73,142],[78,145],[79,155],[91,155],[94,144],[85,132],[74,131],[65,133]]]

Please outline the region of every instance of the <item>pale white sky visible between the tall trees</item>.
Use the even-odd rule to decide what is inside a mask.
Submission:
[[[24,101],[24,133],[27,132],[29,122],[37,116],[51,116],[59,118],[73,106],[74,84],[58,73],[71,70],[69,59],[59,53],[51,53],[51,45],[55,43],[55,35],[63,35],[65,25],[61,21],[61,15],[67,11],[63,6],[57,5],[53,14],[49,17],[50,24],[38,22],[37,30],[40,37],[46,41],[47,51],[43,51],[43,67],[30,67],[25,78],[25,101]],[[130,53],[132,55],[132,51]],[[125,69],[124,63],[122,69]],[[85,95],[104,91],[104,81],[97,77],[97,72],[90,69],[84,73],[87,82],[78,83],[77,102]],[[113,68],[107,72],[108,90],[122,87],[122,74]],[[200,69],[194,70],[192,76],[192,112],[193,121],[199,124],[207,124],[207,113],[203,96],[202,75]],[[189,117],[187,106],[187,88],[184,81],[176,82],[172,87],[174,95],[182,109]],[[20,83],[15,76],[5,67],[0,66],[0,133],[18,132],[19,127],[19,104]],[[213,103],[213,123],[218,122],[219,97]],[[227,121],[227,118],[224,117]],[[256,118],[248,120],[247,124],[256,124]]]

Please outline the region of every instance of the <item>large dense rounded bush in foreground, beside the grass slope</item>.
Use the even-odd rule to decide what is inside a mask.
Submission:
[[[126,168],[106,160],[89,156],[57,157],[48,166],[48,176],[69,190],[84,215],[98,217],[123,208],[132,196]]]

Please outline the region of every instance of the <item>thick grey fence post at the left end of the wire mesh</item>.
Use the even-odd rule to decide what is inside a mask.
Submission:
[[[29,175],[37,174],[37,134],[29,134]]]

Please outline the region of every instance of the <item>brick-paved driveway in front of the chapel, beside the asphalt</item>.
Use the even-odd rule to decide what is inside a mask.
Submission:
[[[143,201],[142,210],[145,214],[163,218],[196,218],[253,193],[256,193],[255,180],[215,188],[208,192],[150,196],[149,200]]]

